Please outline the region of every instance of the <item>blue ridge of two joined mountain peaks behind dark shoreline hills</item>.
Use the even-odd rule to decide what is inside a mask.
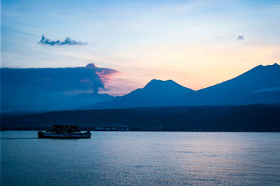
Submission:
[[[172,107],[195,105],[230,105],[280,103],[280,65],[258,65],[242,75],[193,91],[172,80],[153,79],[144,88],[85,109]]]

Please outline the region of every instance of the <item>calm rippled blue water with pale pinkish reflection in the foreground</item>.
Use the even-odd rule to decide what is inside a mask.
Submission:
[[[1,132],[1,185],[280,185],[280,133],[92,134]]]

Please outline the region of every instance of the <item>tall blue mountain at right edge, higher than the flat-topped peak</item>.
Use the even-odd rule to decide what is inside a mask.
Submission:
[[[238,77],[180,99],[188,105],[280,102],[280,65],[258,65]]]

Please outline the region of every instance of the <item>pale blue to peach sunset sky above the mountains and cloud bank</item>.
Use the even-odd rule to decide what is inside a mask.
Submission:
[[[280,1],[1,1],[2,68],[116,70],[101,93],[198,90],[279,62]]]

